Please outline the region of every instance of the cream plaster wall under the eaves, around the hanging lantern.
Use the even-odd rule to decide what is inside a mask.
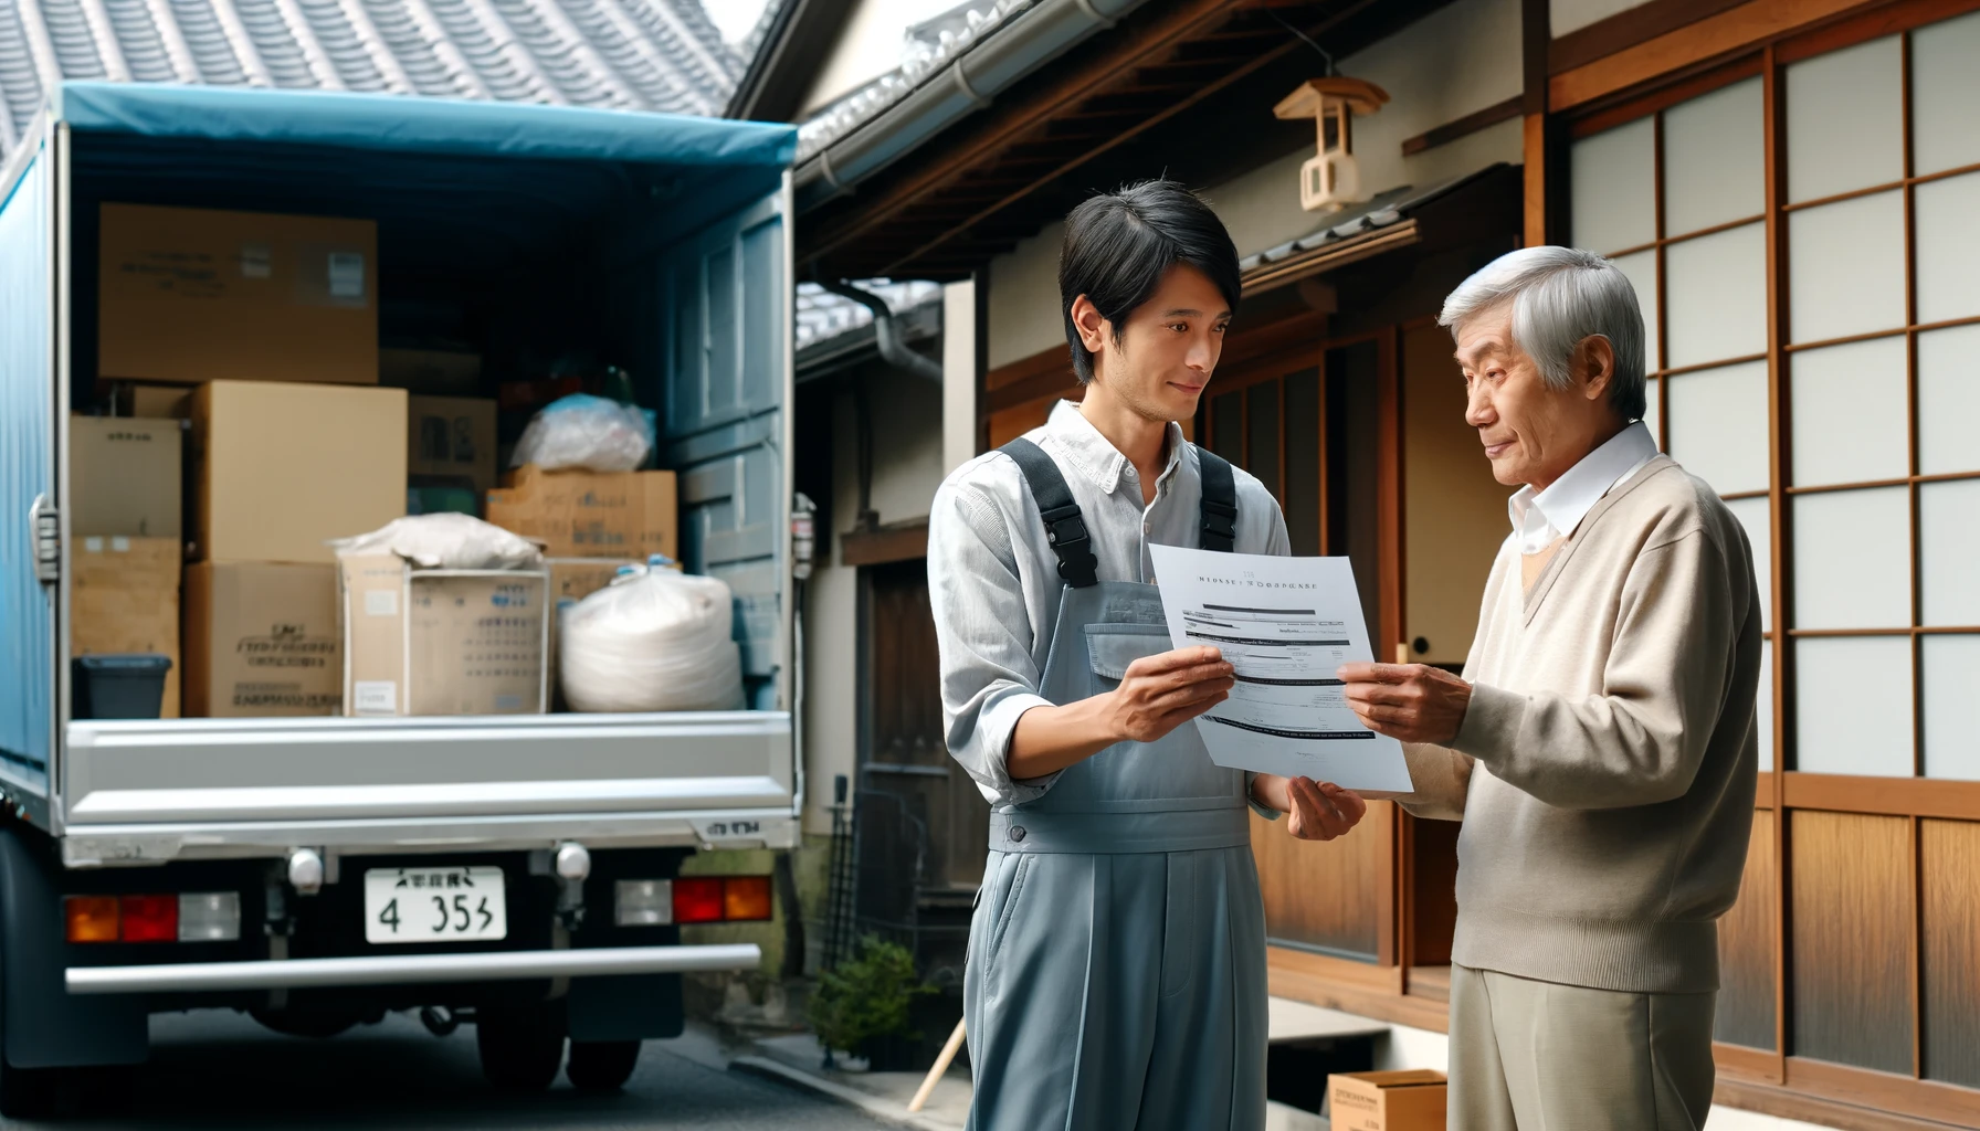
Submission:
[[[1360,162],[1362,184],[1370,192],[1404,184],[1428,188],[1497,160],[1519,162],[1523,149],[1517,119],[1402,156],[1404,139],[1521,93],[1519,59],[1519,0],[1457,0],[1340,59],[1340,73],[1368,79],[1390,95],[1380,113],[1354,121],[1354,158]],[[1269,117],[1271,107],[1259,105],[1257,115]],[[1299,166],[1309,156],[1311,145],[1204,188],[1239,256],[1253,256],[1327,226],[1327,216],[1299,206]],[[1057,285],[1061,238],[1063,224],[1051,224],[990,261],[990,368],[1065,341]]]

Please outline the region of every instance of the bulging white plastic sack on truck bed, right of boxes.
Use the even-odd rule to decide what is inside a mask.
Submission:
[[[719,578],[626,566],[560,618],[564,701],[574,711],[741,709],[733,618],[733,596]]]

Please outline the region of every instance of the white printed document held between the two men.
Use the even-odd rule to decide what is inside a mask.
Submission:
[[[1348,559],[1148,547],[1176,648],[1212,646],[1232,697],[1196,719],[1220,767],[1410,792],[1402,743],[1354,717],[1336,671],[1374,660]]]

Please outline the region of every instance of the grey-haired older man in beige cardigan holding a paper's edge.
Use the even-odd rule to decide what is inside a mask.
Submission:
[[[1713,1097],[1717,919],[1752,828],[1760,600],[1711,485],[1643,426],[1614,263],[1493,261],[1443,305],[1509,487],[1463,679],[1354,664],[1418,816],[1463,818],[1449,1125],[1691,1129]]]

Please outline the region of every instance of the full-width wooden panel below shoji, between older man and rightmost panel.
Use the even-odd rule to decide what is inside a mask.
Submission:
[[[1794,1052],[1911,1074],[1911,822],[1794,812]]]

